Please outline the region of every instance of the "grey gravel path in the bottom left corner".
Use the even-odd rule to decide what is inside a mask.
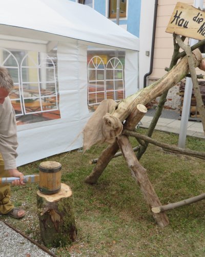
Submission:
[[[0,221],[0,257],[51,256]]]

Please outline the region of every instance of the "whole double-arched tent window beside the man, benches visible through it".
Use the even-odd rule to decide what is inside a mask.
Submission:
[[[0,48],[0,65],[14,82],[9,97],[17,124],[60,118],[56,64],[56,50],[47,54]]]

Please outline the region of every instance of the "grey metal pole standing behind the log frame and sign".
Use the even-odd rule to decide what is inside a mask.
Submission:
[[[203,0],[195,0],[194,7],[200,8],[203,10]],[[190,46],[196,44],[198,40],[190,39]],[[192,79],[186,78],[185,84],[185,95],[183,97],[183,108],[181,113],[181,123],[180,123],[180,132],[179,132],[179,140],[178,140],[178,147],[185,148],[186,144],[186,137],[187,137],[187,126],[189,121],[189,113],[190,113],[190,106],[191,106],[191,98],[192,98]]]

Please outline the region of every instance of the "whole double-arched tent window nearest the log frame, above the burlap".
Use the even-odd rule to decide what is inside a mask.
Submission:
[[[125,51],[88,51],[88,107],[94,111],[101,101],[125,98]],[[99,54],[103,53],[103,54]],[[117,55],[117,56],[116,56]]]

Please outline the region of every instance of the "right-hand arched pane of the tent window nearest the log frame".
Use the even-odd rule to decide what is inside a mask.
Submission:
[[[124,70],[121,61],[113,57],[106,65],[106,99],[116,102],[125,98]]]

